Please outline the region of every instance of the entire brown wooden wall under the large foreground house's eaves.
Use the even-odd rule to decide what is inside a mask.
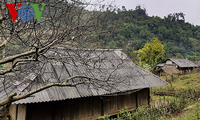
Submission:
[[[11,105],[10,115],[12,120],[93,120],[98,116],[118,114],[126,107],[128,110],[136,109],[146,105],[148,100],[149,88],[145,88],[129,95]]]

